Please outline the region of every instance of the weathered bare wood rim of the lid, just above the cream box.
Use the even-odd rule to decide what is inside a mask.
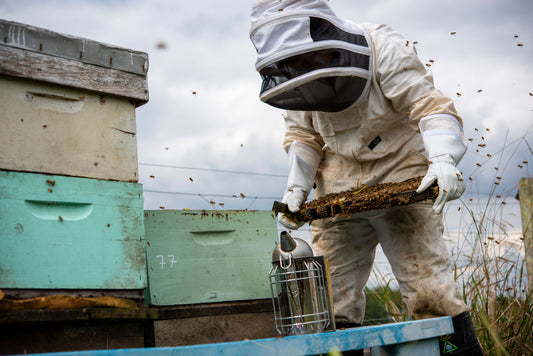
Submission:
[[[146,76],[0,45],[0,75],[148,101]]]

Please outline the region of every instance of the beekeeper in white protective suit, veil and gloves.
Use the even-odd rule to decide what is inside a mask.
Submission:
[[[312,223],[313,247],[331,267],[337,326],[362,324],[379,243],[409,314],[453,317],[455,334],[441,340],[441,351],[481,354],[443,241],[444,204],[465,190],[456,168],[466,151],[462,119],[412,42],[386,25],[340,19],[326,0],[259,1],[250,38],[261,100],[287,110],[290,211],[314,184],[314,198],[417,176],[424,176],[418,192],[439,185],[434,203]],[[288,229],[303,225],[278,219]]]

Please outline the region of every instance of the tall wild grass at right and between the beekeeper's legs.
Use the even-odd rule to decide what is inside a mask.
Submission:
[[[525,136],[522,140],[533,155]],[[510,145],[504,143],[503,147]],[[498,170],[498,167],[509,164],[515,152],[516,148],[511,152],[511,158],[507,155],[505,159],[504,149],[498,152],[494,184],[483,199],[479,195],[476,197],[475,179],[465,177],[469,179],[467,191],[460,202],[448,204],[446,214],[446,219],[451,215],[453,223],[459,226],[453,234],[447,235],[453,270],[487,355],[533,355],[533,295],[530,294],[533,291],[528,290],[524,238],[521,233],[516,233],[521,226],[512,226],[510,216],[506,215],[506,200],[514,200],[514,195],[500,191],[504,172]],[[478,172],[481,174],[486,177],[486,171]],[[518,181],[514,192],[517,185]],[[451,214],[450,209],[457,211]],[[398,297],[400,293],[393,287],[396,285],[394,280],[383,275],[377,278],[385,284],[367,289],[369,299],[380,301],[391,322],[408,320],[406,307],[401,296]]]

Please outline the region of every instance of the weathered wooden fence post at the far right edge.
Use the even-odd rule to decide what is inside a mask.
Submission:
[[[521,178],[518,182],[520,215],[526,252],[527,280],[530,295],[533,293],[533,178]]]

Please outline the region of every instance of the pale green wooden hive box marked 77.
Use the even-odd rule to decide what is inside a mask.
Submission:
[[[152,305],[271,298],[278,241],[271,211],[147,210]]]

